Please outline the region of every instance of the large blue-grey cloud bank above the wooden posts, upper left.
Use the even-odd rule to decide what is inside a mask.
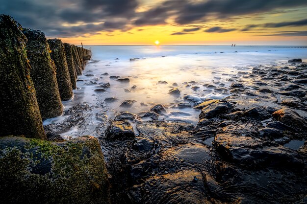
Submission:
[[[0,13],[48,36],[72,37],[128,30],[137,5],[137,0],[5,0]]]

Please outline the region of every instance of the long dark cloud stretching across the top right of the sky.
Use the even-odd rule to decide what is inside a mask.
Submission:
[[[135,24],[162,24],[171,16],[175,17],[176,23],[188,24],[204,22],[209,17],[229,19],[305,5],[306,0],[167,0],[142,13]]]

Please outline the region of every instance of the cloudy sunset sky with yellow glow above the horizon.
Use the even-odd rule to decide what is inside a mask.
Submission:
[[[307,0],[0,0],[75,45],[307,45]]]

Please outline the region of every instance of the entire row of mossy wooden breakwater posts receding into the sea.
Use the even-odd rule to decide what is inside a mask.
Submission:
[[[0,136],[46,139],[42,119],[63,113],[90,59],[91,50],[0,15]]]

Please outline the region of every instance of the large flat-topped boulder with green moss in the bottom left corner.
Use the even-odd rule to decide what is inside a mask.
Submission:
[[[108,204],[98,140],[0,138],[0,201],[5,204]]]

